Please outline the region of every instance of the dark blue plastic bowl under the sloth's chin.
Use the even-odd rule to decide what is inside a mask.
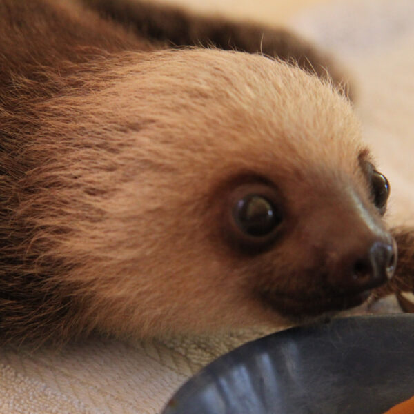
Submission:
[[[414,315],[350,317],[219,357],[163,414],[382,414],[413,395]]]

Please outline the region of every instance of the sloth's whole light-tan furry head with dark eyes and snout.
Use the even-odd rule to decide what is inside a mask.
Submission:
[[[328,83],[239,52],[113,59],[41,108],[46,161],[27,178],[41,189],[28,250],[74,298],[72,325],[279,323],[361,304],[392,277],[389,184]]]

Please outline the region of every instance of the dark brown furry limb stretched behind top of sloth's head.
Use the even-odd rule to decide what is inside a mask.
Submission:
[[[199,16],[173,6],[145,1],[81,1],[104,17],[131,28],[139,37],[169,47],[213,46],[223,50],[263,53],[284,61],[295,61],[301,68],[315,72],[319,77],[326,77],[328,70],[337,84],[347,80],[344,72],[328,55],[288,30]]]

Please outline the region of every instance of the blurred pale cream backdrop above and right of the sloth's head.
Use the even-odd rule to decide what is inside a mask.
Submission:
[[[295,30],[343,63],[364,139],[391,181],[388,220],[414,224],[413,0],[166,0]]]

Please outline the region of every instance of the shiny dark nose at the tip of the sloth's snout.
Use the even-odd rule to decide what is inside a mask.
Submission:
[[[397,264],[397,245],[394,239],[377,240],[368,245],[365,251],[361,254],[361,249],[357,248],[351,255],[347,255],[348,265],[342,268],[344,270],[340,281],[336,281],[336,287],[341,293],[364,292],[393,277]]]

